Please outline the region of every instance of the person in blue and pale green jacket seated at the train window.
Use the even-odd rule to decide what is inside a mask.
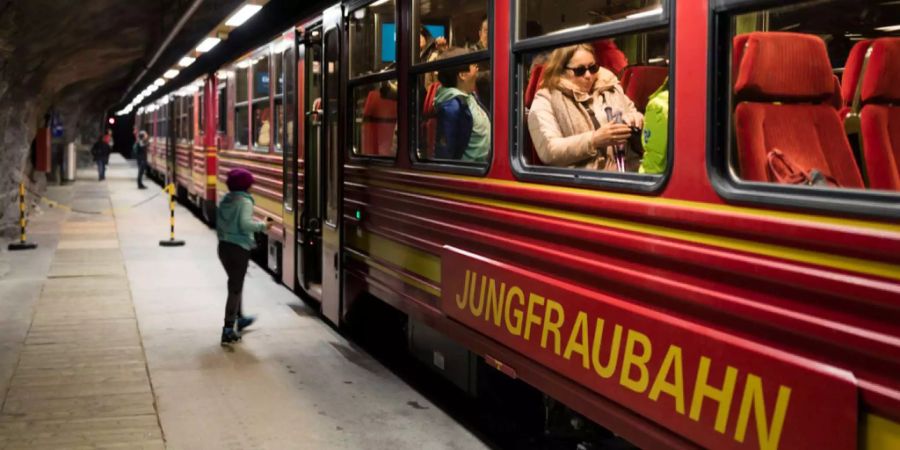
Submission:
[[[440,59],[465,55],[451,49]],[[438,71],[440,89],[434,97],[438,116],[435,157],[484,162],[491,146],[491,120],[475,95],[478,65],[453,66]]]

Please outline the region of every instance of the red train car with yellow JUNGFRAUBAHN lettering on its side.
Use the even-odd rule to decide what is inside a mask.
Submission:
[[[254,171],[282,281],[335,325],[392,305],[460,386],[483,358],[647,448],[896,448],[898,23],[849,0],[336,4],[207,81],[217,192]],[[620,114],[565,110],[573,76]],[[639,136],[594,143],[623,116]]]

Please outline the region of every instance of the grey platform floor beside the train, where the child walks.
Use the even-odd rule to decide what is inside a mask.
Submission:
[[[259,320],[221,347],[215,232],[179,206],[187,245],[160,247],[166,198],[135,174],[79,172],[30,224],[37,250],[3,243],[0,449],[486,448],[253,264]]]

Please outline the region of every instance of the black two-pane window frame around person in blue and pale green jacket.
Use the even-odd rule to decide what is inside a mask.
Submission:
[[[416,23],[418,9],[416,6],[421,0],[411,0],[409,2],[410,8],[410,30],[411,33],[409,35],[410,39],[410,51],[411,54],[415,54],[417,48],[417,39],[418,32],[413,29],[413,25]],[[410,58],[410,61],[403,67],[403,69],[407,73],[407,80],[411,80],[411,82],[415,83],[414,95],[411,95],[408,99],[409,104],[407,108],[410,111],[410,126],[407,132],[409,135],[407,136],[407,142],[409,142],[409,160],[413,168],[434,172],[446,172],[446,173],[454,173],[460,175],[471,175],[471,176],[487,176],[488,172],[491,170],[491,166],[494,162],[494,144],[496,142],[495,137],[495,128],[494,124],[496,121],[494,120],[494,113],[497,111],[497,103],[495,101],[496,95],[494,93],[494,81],[496,79],[496,68],[494,67],[494,2],[486,1],[487,3],[487,20],[488,20],[488,48],[486,50],[479,50],[475,52],[469,52],[465,55],[460,55],[454,58],[441,59],[435,61],[426,61],[426,62],[414,62],[415,58]],[[514,3],[514,2],[513,2]],[[510,16],[513,17],[513,16]],[[448,30],[449,31],[449,30]],[[453,161],[453,160],[428,160],[428,159],[419,159],[419,127],[421,126],[421,122],[419,121],[420,117],[420,108],[422,105],[419,104],[419,77],[428,72],[434,72],[438,69],[461,66],[463,64],[478,64],[487,61],[488,66],[490,67],[490,85],[491,85],[491,107],[489,108],[488,117],[491,121],[491,144],[490,149],[488,150],[487,159],[483,163],[472,163],[465,161]],[[424,94],[424,93],[423,93]]]

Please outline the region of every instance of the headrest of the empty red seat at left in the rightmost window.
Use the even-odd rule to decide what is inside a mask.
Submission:
[[[801,33],[755,32],[735,37],[743,42],[735,95],[762,101],[820,101],[834,93],[834,78],[825,42]]]

